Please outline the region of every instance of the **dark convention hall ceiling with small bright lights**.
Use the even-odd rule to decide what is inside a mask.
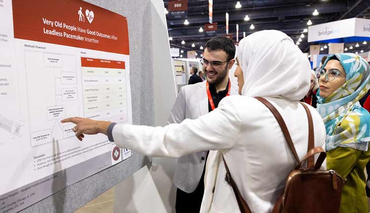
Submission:
[[[168,9],[168,1],[164,6]],[[296,42],[304,29],[308,29],[307,22],[313,25],[337,21],[347,18],[370,18],[370,0],[239,0],[241,8],[235,8],[236,0],[213,0],[213,22],[218,23],[218,35],[225,34],[225,13],[229,13],[229,34],[233,34],[236,41],[236,24],[239,25],[239,39],[259,30],[281,30],[292,37]],[[317,9],[318,15],[313,15]],[[245,21],[248,15],[249,21]],[[196,50],[201,53],[200,46],[204,46],[210,37],[200,32],[208,23],[208,0],[188,0],[187,20],[173,19],[166,15],[167,27],[171,47],[186,50]],[[251,25],[255,29],[251,30]],[[298,45],[303,52],[307,52],[307,33],[301,38]],[[182,44],[182,41],[185,44]],[[192,47],[192,44],[195,47]],[[370,42],[368,42],[370,43]],[[369,50],[369,48],[368,48]]]

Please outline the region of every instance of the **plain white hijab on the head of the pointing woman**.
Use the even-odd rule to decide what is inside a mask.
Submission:
[[[238,50],[242,95],[300,100],[309,90],[310,63],[284,32],[255,32],[240,41]]]

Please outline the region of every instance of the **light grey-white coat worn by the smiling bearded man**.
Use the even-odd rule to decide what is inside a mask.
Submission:
[[[238,94],[236,84],[231,84],[230,95]],[[170,123],[181,123],[185,119],[197,119],[208,113],[206,81],[187,85],[180,89],[171,114]],[[199,184],[207,158],[207,151],[179,157],[176,161],[173,183],[181,190],[191,193]]]

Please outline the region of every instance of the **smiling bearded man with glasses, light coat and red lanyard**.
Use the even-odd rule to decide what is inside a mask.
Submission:
[[[207,80],[180,89],[168,123],[197,119],[218,107],[222,98],[238,94],[237,85],[229,81],[229,69],[234,64],[235,46],[224,36],[210,39],[201,59]],[[210,123],[209,125],[212,125]],[[202,130],[199,129],[199,134]],[[173,182],[176,193],[176,213],[199,212],[204,193],[204,172],[208,151],[185,155],[177,159]]]

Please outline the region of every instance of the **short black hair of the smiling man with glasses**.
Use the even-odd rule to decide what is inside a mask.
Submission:
[[[207,41],[205,48],[208,51],[222,50],[227,54],[227,59],[235,57],[235,45],[230,38],[225,36],[216,36]]]

